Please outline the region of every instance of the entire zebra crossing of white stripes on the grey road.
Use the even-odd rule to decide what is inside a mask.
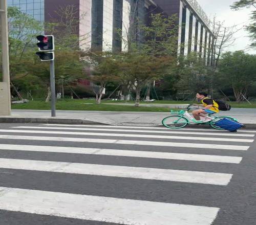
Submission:
[[[189,128],[173,131],[164,127],[63,124],[0,129],[3,134],[0,135],[0,154],[3,155],[3,158],[0,156],[0,173],[4,169],[3,172],[6,173],[17,170],[57,175],[80,174],[85,179],[86,175],[98,178],[113,177],[117,179],[116,182],[118,179],[126,178],[134,182],[135,187],[138,181],[158,181],[176,183],[181,190],[187,185],[189,188],[192,185],[227,188],[233,174],[221,169],[219,170],[221,172],[216,172],[214,167],[216,169],[219,169],[219,165],[227,169],[229,167],[224,165],[238,167],[243,159],[241,155],[249,149],[248,144],[254,141],[248,137],[253,138],[253,133],[256,131],[242,130],[242,133],[228,133],[207,129],[207,132],[201,134],[201,130],[205,131],[205,129]],[[11,144],[9,140],[12,141]],[[227,142],[234,142],[236,145],[226,145]],[[77,146],[73,146],[74,143]],[[141,147],[143,148],[140,149]],[[216,154],[212,154],[215,151]],[[229,155],[230,153],[232,156]],[[42,154],[43,160],[40,158]],[[51,156],[60,154],[62,158],[51,159]],[[62,161],[63,154],[67,155],[65,161]],[[98,161],[81,163],[74,160],[78,158],[73,158],[71,161],[69,160],[71,155],[77,155],[78,158],[81,155],[83,159],[97,156]],[[117,157],[118,164],[106,164],[104,162],[106,156]],[[119,160],[120,157],[131,162],[131,165],[120,165],[124,162]],[[144,161],[147,162],[147,167],[132,165],[134,162],[140,162],[141,159],[147,160]],[[164,160],[165,164],[169,162],[168,169],[160,168],[160,164],[157,164],[158,168],[153,167],[150,163],[152,160],[161,160],[161,162]],[[206,171],[173,169],[174,161],[180,162],[180,165],[184,162],[189,163],[192,165],[191,168],[197,163],[209,164],[211,167],[208,171],[207,168]],[[179,167],[179,164],[176,165]],[[172,202],[172,199],[158,202],[130,199],[125,196],[120,198],[104,196],[104,194],[103,196],[87,195],[86,191],[83,191],[83,194],[70,192],[68,188],[64,193],[54,190],[35,190],[34,187],[23,189],[13,185],[0,187],[0,210],[93,220],[95,224],[100,221],[129,225],[210,225],[220,210],[218,207],[197,205],[196,200],[191,204],[177,204]],[[134,193],[136,194],[139,193]]]

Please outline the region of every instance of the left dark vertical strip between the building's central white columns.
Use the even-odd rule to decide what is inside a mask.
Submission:
[[[92,1],[92,49],[102,51],[103,0]]]

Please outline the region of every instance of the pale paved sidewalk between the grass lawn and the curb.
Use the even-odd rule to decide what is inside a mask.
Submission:
[[[113,125],[160,125],[169,113],[124,112],[124,111],[71,111],[57,110],[56,119],[84,120]],[[219,115],[232,116],[244,124],[256,125],[256,109],[233,108]],[[12,110],[12,116],[0,118],[51,118],[50,110]]]

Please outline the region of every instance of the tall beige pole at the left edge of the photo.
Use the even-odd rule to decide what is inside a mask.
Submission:
[[[8,19],[7,19],[7,0],[0,1],[0,19],[1,19],[1,42],[2,42],[2,69],[3,82],[7,85],[7,104],[6,111],[11,115],[11,93],[10,93],[10,69],[9,69],[9,42],[8,42]]]

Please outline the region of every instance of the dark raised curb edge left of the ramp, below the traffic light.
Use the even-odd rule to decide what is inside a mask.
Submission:
[[[59,118],[0,118],[0,123],[54,123],[54,124],[110,125],[110,123],[95,122],[95,121],[83,120],[83,119],[59,119]]]

